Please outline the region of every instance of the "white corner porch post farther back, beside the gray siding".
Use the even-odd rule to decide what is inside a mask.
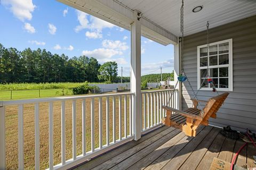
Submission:
[[[180,58],[180,48],[179,43],[174,45],[174,82],[178,81],[178,76],[181,72],[181,58]],[[182,95],[182,86],[181,83],[178,83],[177,89],[179,90],[177,94],[177,109],[181,109],[181,95]]]

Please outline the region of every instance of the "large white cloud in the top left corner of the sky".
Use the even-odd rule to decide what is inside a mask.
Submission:
[[[32,12],[36,7],[32,0],[2,0],[2,3],[22,22],[32,19]]]

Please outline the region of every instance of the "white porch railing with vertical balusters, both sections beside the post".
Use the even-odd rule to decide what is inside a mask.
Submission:
[[[166,105],[171,91],[173,90],[141,92],[142,133],[146,133],[162,124],[162,117],[164,116],[162,105]],[[48,128],[44,129],[48,131],[46,138],[49,138],[46,140],[49,143],[49,155],[46,155],[48,167],[49,169],[67,169],[134,139],[132,124],[133,95],[133,93],[127,92],[108,95],[0,101],[0,169],[6,168],[6,164],[8,164],[6,162],[6,152],[10,152],[10,150],[6,149],[6,143],[9,142],[6,140],[6,117],[9,115],[10,107],[17,108],[17,113],[15,114],[18,114],[18,148],[16,150],[16,154],[18,154],[18,169],[26,168],[25,163],[28,161],[35,162],[35,169],[39,169],[43,161],[47,162],[47,160],[42,160],[40,155],[42,139],[39,137],[41,137],[40,134],[43,129],[40,128],[39,124],[42,124],[40,116],[43,114],[48,117],[48,122],[46,122]],[[178,106],[177,95],[178,93],[175,91],[169,104],[170,106]],[[30,116],[34,116],[34,122],[32,123],[34,131],[26,131],[31,138],[34,138],[34,143],[32,142],[34,148],[31,147],[31,149],[34,149],[34,158],[32,157],[31,160],[27,160],[28,157],[25,159],[26,153],[24,152],[25,142],[27,142],[25,141],[25,135],[27,134],[24,133],[24,125],[26,114],[28,114],[28,105],[29,112],[31,112]],[[44,110],[42,105],[45,106]],[[71,109],[68,109],[67,105]],[[58,109],[59,113],[57,112]],[[68,112],[70,112],[70,117],[67,117]],[[56,116],[59,116],[59,119],[54,118]],[[69,118],[71,119],[70,127],[67,126]],[[58,123],[60,124],[57,127],[60,131],[59,147],[61,149],[60,156],[57,154],[58,158],[56,158],[56,150],[54,149],[57,147],[56,143],[58,142],[55,141],[57,139],[54,138],[54,134]],[[78,124],[82,125],[81,142],[77,142],[77,135],[79,135],[77,132]],[[71,138],[69,139],[71,142],[67,142],[67,128],[71,129]],[[12,135],[14,136],[15,133]],[[72,143],[71,151],[69,150],[71,159],[68,160],[66,159],[67,143]],[[79,153],[82,154],[79,155]],[[59,157],[61,158],[59,159]],[[60,162],[54,162],[55,159],[60,160]]]

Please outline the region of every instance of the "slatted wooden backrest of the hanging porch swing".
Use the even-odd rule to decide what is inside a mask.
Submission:
[[[203,108],[204,116],[203,121],[209,120],[211,115],[214,115],[218,112],[219,108],[224,103],[225,99],[228,97],[229,93],[225,92],[221,95],[212,97],[207,101],[205,107]]]

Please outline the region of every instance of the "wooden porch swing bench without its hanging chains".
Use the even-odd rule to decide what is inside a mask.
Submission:
[[[189,137],[195,137],[196,129],[200,124],[207,126],[210,117],[217,117],[216,113],[228,95],[229,93],[225,92],[210,98],[208,101],[198,100],[200,103],[205,103],[203,116],[201,116],[202,111],[197,108],[198,101],[196,99],[191,99],[194,107],[187,108],[183,111],[179,111],[178,109],[169,106],[162,106],[162,108],[166,110],[166,116],[163,117],[163,124],[180,129]]]

